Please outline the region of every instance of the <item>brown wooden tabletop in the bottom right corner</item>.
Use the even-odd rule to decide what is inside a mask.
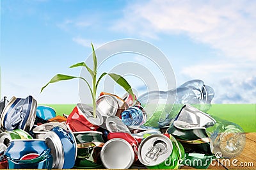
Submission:
[[[182,169],[193,169],[193,167],[184,166]],[[256,169],[256,132],[246,134],[244,150],[238,157],[230,160],[214,160],[209,169]]]

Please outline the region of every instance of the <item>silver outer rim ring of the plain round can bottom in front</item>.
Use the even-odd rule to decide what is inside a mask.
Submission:
[[[118,169],[128,169],[129,167],[132,166],[132,164],[133,164],[133,162],[134,162],[135,154],[134,154],[134,150],[132,149],[131,144],[129,144],[127,141],[125,141],[124,139],[121,139],[121,138],[110,139],[108,142],[106,142],[106,143],[103,145],[103,147],[102,147],[102,149],[101,149],[101,151],[100,151],[100,158],[101,158],[101,160],[102,160],[102,164],[104,165],[104,167],[106,167],[106,168],[108,168],[108,169],[111,169],[111,167],[108,167],[108,164],[107,164],[107,162],[106,162],[105,159],[104,159],[104,154],[103,154],[103,153],[104,153],[104,151],[106,150],[106,147],[108,147],[108,144],[109,144],[109,143],[113,143],[113,142],[115,142],[115,141],[121,141],[121,142],[125,143],[125,144],[128,146],[129,150],[130,150],[130,153],[131,153],[131,160],[130,160],[129,164],[127,164],[127,166],[125,166],[125,167],[118,167]]]

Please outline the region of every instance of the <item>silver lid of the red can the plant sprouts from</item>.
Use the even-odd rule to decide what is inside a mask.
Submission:
[[[93,125],[100,126],[103,123],[102,115],[96,109],[96,118],[93,117],[93,108],[90,105],[86,104],[77,104],[78,111],[83,114],[84,118],[88,120]]]

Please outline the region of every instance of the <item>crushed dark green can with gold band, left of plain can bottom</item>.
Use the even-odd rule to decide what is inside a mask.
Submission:
[[[77,157],[75,168],[100,168],[100,151],[104,145],[102,133],[85,131],[73,133],[77,142]]]

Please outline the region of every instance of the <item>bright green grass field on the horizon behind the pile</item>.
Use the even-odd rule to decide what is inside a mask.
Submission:
[[[76,104],[44,104],[54,108],[57,115],[70,114]],[[256,132],[256,104],[212,104],[207,113],[240,125],[245,132]]]

